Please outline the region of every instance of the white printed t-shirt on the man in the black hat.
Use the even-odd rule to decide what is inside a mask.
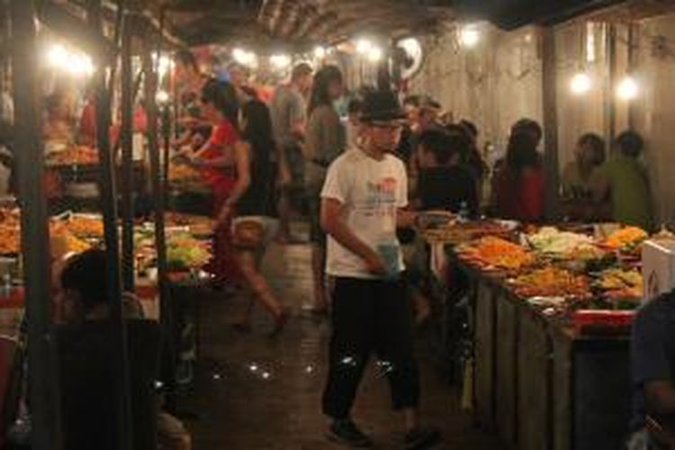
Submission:
[[[344,205],[342,218],[358,238],[403,270],[396,238],[396,212],[408,206],[408,176],[401,160],[386,155],[369,157],[359,148],[348,150],[330,166],[321,198]],[[332,276],[374,279],[365,262],[329,236],[326,273]]]

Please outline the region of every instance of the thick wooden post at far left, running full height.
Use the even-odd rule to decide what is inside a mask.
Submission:
[[[31,448],[53,450],[60,425],[57,384],[54,383],[49,329],[51,285],[49,225],[44,197],[40,107],[38,102],[38,51],[35,40],[35,5],[29,0],[10,2],[12,20],[12,69],[14,74],[14,132],[19,201],[23,276],[28,320],[28,383],[31,386]]]

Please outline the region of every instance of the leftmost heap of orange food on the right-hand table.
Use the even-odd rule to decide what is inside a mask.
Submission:
[[[507,270],[518,270],[535,262],[535,256],[525,248],[494,237],[482,238],[461,248],[460,255],[479,266]]]

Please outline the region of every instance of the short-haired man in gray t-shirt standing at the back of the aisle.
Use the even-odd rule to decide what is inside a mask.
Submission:
[[[282,187],[278,205],[280,237],[285,240],[290,238],[291,196],[293,193],[302,194],[304,187],[302,145],[307,122],[305,95],[311,90],[312,72],[307,63],[293,67],[291,83],[277,87],[270,103]]]

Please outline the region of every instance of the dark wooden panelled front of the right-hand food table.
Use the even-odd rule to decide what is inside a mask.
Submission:
[[[473,286],[474,410],[518,450],[614,449],[630,401],[626,336],[584,336],[509,290],[503,277],[449,260]]]

